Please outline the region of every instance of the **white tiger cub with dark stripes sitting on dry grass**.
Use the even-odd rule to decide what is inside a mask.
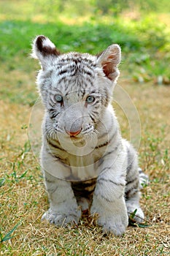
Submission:
[[[129,214],[136,210],[136,221],[144,219],[136,151],[121,138],[111,105],[120,47],[110,45],[98,56],[61,54],[39,36],[33,56],[42,66],[37,84],[45,105],[41,165],[50,208],[42,219],[78,223],[90,208],[104,232],[120,236]]]

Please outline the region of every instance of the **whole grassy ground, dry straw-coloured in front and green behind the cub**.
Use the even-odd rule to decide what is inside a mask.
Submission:
[[[0,1],[0,249],[1,255],[169,255],[169,29],[167,15],[131,20],[79,18],[36,12],[33,1]],[[12,13],[12,15],[11,15]],[[31,14],[30,14],[31,13]],[[166,22],[157,22],[159,19]],[[68,25],[71,24],[71,25]],[[167,22],[169,23],[169,22]],[[104,236],[84,215],[72,229],[41,222],[47,209],[42,173],[28,142],[39,68],[28,58],[31,40],[45,34],[63,51],[97,53],[112,42],[123,49],[118,82],[136,105],[141,122],[139,162],[150,176],[142,190],[146,227],[123,237]],[[123,136],[128,120],[113,103]]]

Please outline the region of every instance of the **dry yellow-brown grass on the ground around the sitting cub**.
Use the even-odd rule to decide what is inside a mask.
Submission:
[[[1,66],[1,70],[5,68]],[[133,99],[142,124],[139,156],[150,184],[142,191],[141,203],[149,226],[128,227],[123,237],[115,237],[103,235],[87,216],[72,229],[41,222],[47,195],[39,165],[29,150],[25,125],[31,112],[27,94],[36,91],[34,75],[9,71],[1,85],[1,90],[5,86],[10,92],[0,102],[2,236],[20,223],[14,237],[0,243],[1,255],[169,255],[169,87],[130,84],[123,79],[124,73],[119,82]],[[18,80],[22,86],[16,89]],[[15,100],[20,88],[21,101]],[[117,115],[125,129],[118,108]]]

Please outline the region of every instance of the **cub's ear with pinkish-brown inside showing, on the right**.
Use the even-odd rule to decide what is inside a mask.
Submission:
[[[120,64],[121,49],[119,45],[110,45],[98,56],[98,64],[103,68],[109,80],[115,80],[120,74],[117,66]]]

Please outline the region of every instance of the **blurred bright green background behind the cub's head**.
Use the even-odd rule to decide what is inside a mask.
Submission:
[[[31,71],[31,41],[45,34],[63,52],[98,53],[118,43],[125,78],[170,83],[169,0],[7,0],[0,1],[0,12],[0,60],[5,72]]]

